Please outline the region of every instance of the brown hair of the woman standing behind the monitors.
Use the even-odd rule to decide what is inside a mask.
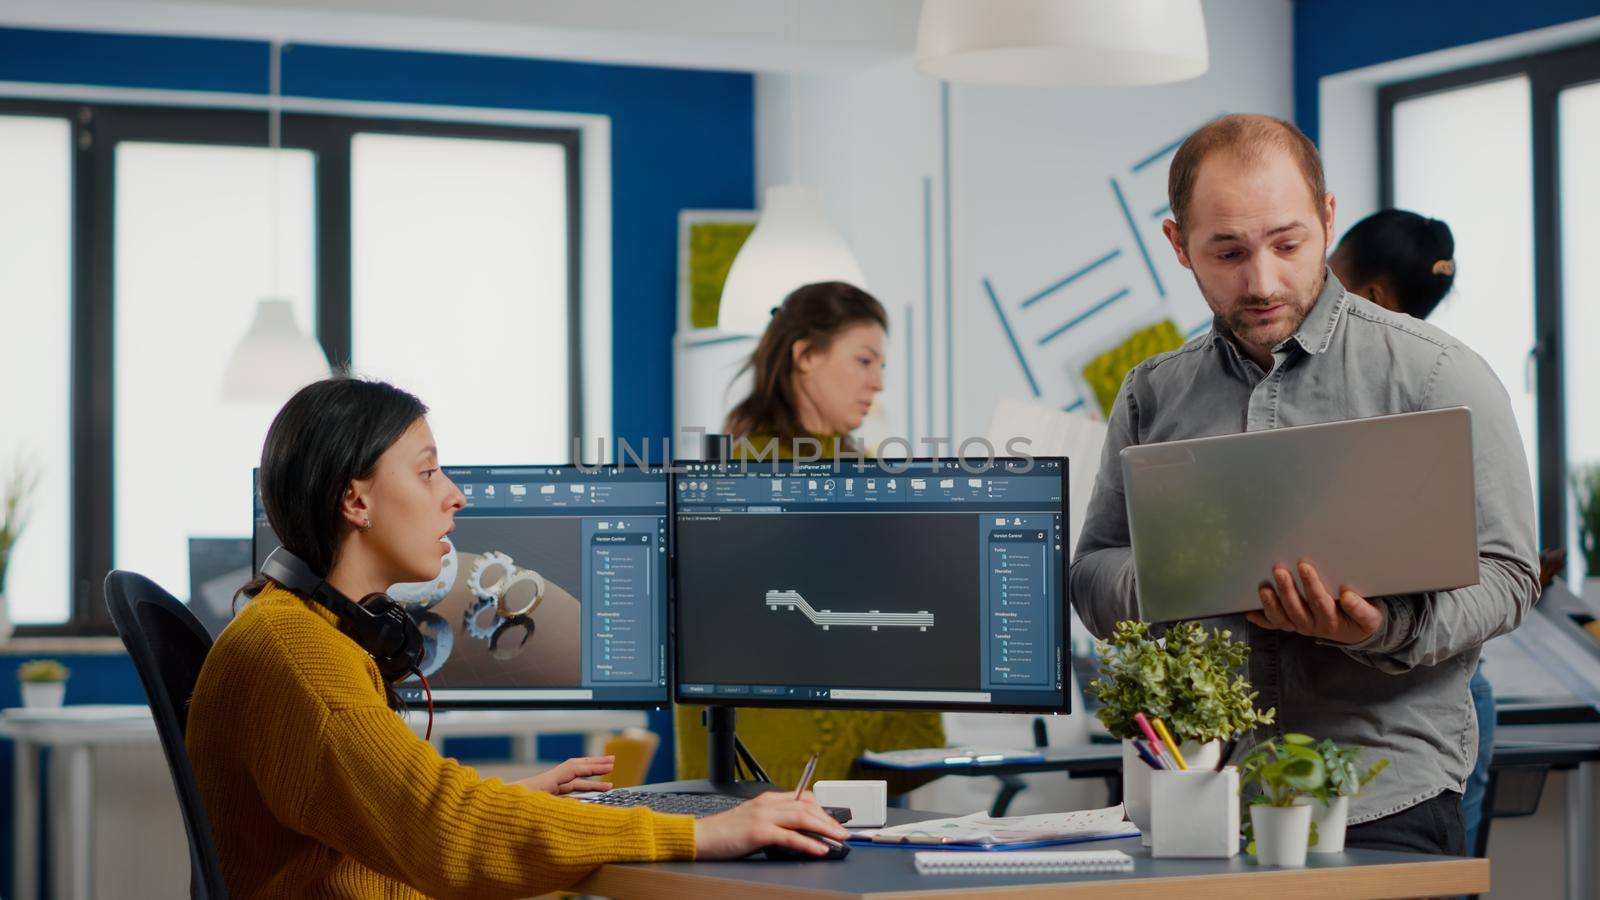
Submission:
[[[790,291],[739,370],[752,373],[750,396],[728,413],[723,428],[734,437],[760,434],[781,442],[805,437],[794,397],[794,346],[806,341],[811,349],[824,351],[840,331],[862,322],[875,322],[885,331],[890,327],[883,304],[854,285],[818,282]]]

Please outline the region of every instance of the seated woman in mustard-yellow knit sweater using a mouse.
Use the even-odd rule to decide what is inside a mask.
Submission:
[[[272,530],[342,597],[438,577],[464,500],[438,468],[426,412],[389,384],[331,378],[294,394],[267,431]],[[243,593],[187,729],[235,898],[526,897],[603,863],[738,858],[774,844],[821,855],[798,830],[846,838],[810,796],[771,793],[701,820],[558,799],[606,788],[594,778],[610,757],[514,785],[478,778],[400,721],[378,661],[322,601],[270,580]]]

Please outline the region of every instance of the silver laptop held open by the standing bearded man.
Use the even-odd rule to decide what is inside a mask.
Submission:
[[[1146,621],[1259,610],[1299,559],[1363,597],[1478,581],[1466,407],[1128,447],[1122,476]]]

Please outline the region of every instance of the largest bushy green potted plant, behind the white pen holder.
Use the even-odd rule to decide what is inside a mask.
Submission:
[[[1133,740],[1144,737],[1134,714],[1162,719],[1190,769],[1214,769],[1222,741],[1272,724],[1274,711],[1256,709],[1256,693],[1240,674],[1250,645],[1230,631],[1184,621],[1152,637],[1149,623],[1128,620],[1096,652],[1099,677],[1088,690],[1101,701],[1096,717],[1122,738],[1123,807],[1149,844],[1150,767],[1133,749]]]

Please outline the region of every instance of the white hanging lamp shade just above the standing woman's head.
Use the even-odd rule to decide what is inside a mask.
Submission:
[[[762,218],[728,267],[717,328],[760,335],[789,291],[814,282],[867,287],[861,264],[829,224],[816,192],[798,184],[768,187]]]

